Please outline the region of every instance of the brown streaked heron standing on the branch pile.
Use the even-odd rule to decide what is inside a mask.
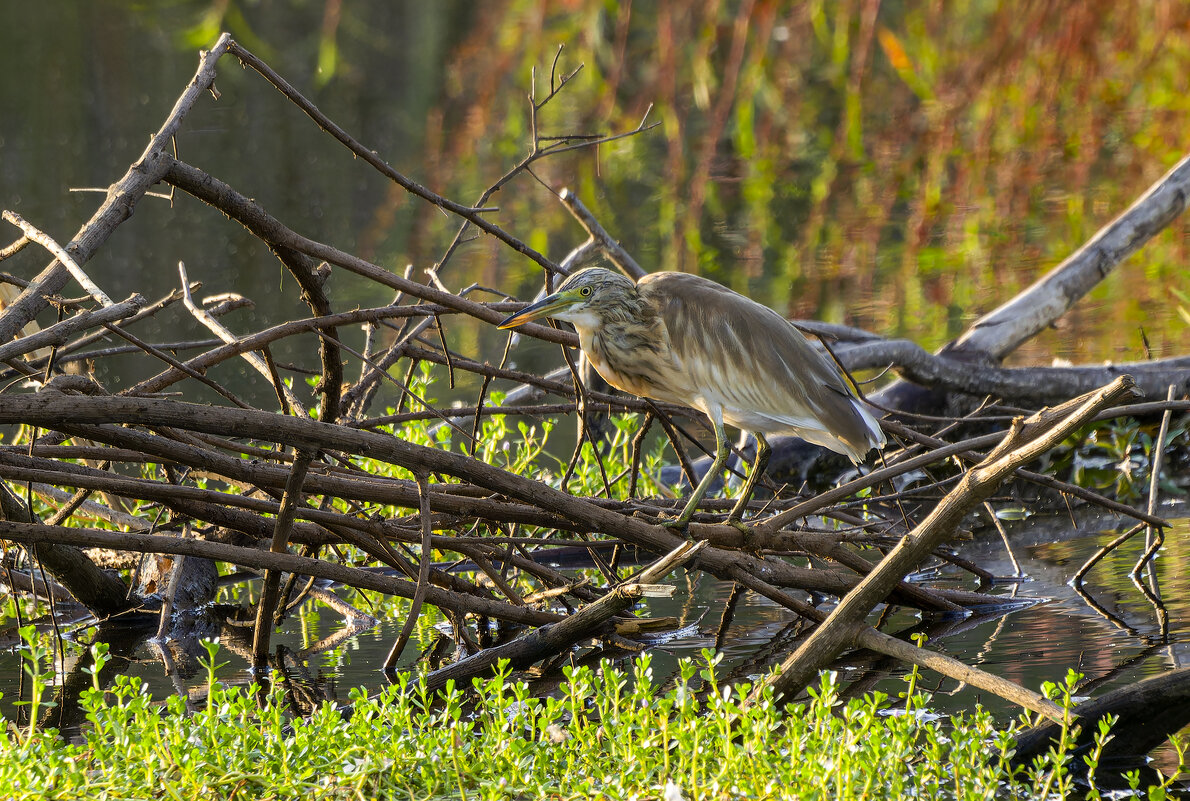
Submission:
[[[710,420],[715,458],[677,519],[685,527],[727,464],[725,425],[751,433],[756,461],[727,520],[743,525],[768,465],[766,434],[791,433],[864,461],[884,446],[869,407],[839,368],[768,306],[690,273],[651,273],[633,282],[601,267],[572,273],[557,290],[499,324],[565,320],[595,370],[626,393],[695,408]]]

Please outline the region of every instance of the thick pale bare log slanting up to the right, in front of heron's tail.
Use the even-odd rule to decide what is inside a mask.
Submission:
[[[844,597],[829,618],[790,655],[772,689],[791,697],[847,647],[857,645],[868,614],[888,597],[889,590],[947,537],[963,518],[996,490],[1012,473],[1061,442],[1097,412],[1133,394],[1127,376],[1107,387],[1046,409],[1023,423],[1014,423],[1003,442],[969,470],[947,496],[881,561],[860,584]]]

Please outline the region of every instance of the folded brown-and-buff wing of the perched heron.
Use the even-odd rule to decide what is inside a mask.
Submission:
[[[727,423],[797,431],[852,458],[879,440],[835,365],[768,306],[684,273],[654,273],[638,289],[660,313],[691,386]]]

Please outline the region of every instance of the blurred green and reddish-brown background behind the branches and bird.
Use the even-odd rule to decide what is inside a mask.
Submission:
[[[538,163],[646,269],[700,271],[793,317],[945,343],[1078,248],[1190,148],[1190,4],[1152,0],[171,0],[8,4],[0,29],[0,205],[69,239],[143,149],[223,30],[406,175],[470,202],[546,134],[647,133]],[[180,155],[298,231],[415,275],[457,221],[388,184],[233,62]],[[541,183],[496,194],[553,257],[584,238]],[[10,236],[11,232],[8,232]],[[1188,350],[1188,223],[1129,259],[1017,363]],[[32,250],[32,249],[30,249]],[[4,269],[32,275],[23,254]],[[142,204],[93,262],[111,294],[176,284],[303,315],[238,226],[183,198]],[[441,270],[520,296],[528,261],[489,238]],[[278,292],[278,287],[281,290]],[[332,279],[338,308],[381,305]],[[123,294],[121,294],[123,293]],[[188,321],[180,321],[186,328]],[[1144,328],[1144,337],[1141,330]],[[457,332],[457,333],[456,333]],[[194,332],[199,334],[198,331]],[[455,326],[495,358],[502,337]],[[177,336],[171,331],[170,336]]]

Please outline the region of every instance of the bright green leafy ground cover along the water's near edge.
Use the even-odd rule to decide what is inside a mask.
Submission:
[[[50,688],[46,652],[29,632],[35,714]],[[983,709],[928,713],[916,674],[901,699],[843,700],[829,674],[808,703],[746,705],[745,686],[718,690],[715,664],[684,662],[662,689],[647,656],[632,675],[577,668],[553,696],[497,674],[464,692],[426,693],[409,675],[378,697],[352,693],[306,719],[282,690],[224,687],[209,644],[208,694],[154,701],[134,678],[87,692],[89,726],[7,722],[6,799],[1003,799],[1082,797],[1060,746],[1012,768],[1014,727]],[[96,669],[104,649],[96,647]],[[1069,690],[1057,690],[1070,703]],[[1107,727],[1100,732],[1100,741]],[[1070,738],[1066,737],[1066,743]],[[1095,774],[1095,753],[1086,757]],[[1133,786],[1151,799],[1169,783]],[[1086,795],[1102,796],[1094,787]]]

